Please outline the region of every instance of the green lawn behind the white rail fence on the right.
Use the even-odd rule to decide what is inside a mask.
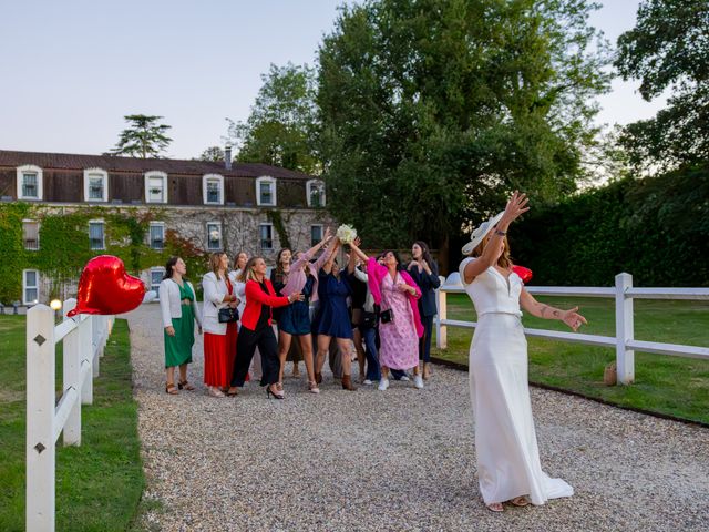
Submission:
[[[578,305],[588,326],[580,332],[615,336],[615,303],[602,298],[538,297],[559,308]],[[449,319],[474,321],[466,295],[449,294]],[[526,327],[571,330],[561,321],[525,315]],[[448,349],[432,355],[467,365],[472,329],[448,328]],[[709,346],[709,303],[635,300],[635,338],[638,340]],[[435,339],[433,340],[435,345]],[[530,380],[604,399],[617,405],[668,413],[709,423],[709,360],[635,354],[635,383],[607,387],[603,371],[615,350],[530,338]]]

